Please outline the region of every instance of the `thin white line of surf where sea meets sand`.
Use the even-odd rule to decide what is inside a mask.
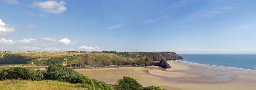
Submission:
[[[212,67],[225,67],[225,68],[231,68],[231,69],[250,70],[250,71],[256,72],[256,70],[254,70],[254,69],[246,69],[246,68],[239,68],[239,67],[227,67],[227,66],[219,66],[219,65],[212,65],[212,64],[200,64],[200,63],[196,63],[196,62],[187,62],[187,61],[183,61],[183,60],[178,60],[178,61],[190,63],[190,64],[199,64],[199,65],[212,66]]]

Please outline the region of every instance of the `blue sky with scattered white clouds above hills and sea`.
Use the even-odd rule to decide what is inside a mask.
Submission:
[[[0,0],[0,51],[256,54],[256,0]]]

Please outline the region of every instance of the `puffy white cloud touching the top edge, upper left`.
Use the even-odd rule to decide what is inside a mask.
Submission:
[[[33,3],[34,7],[39,8],[40,10],[46,12],[46,13],[63,13],[67,8],[65,7],[66,3],[65,1],[59,1],[56,0],[47,0],[47,1],[35,1]]]

